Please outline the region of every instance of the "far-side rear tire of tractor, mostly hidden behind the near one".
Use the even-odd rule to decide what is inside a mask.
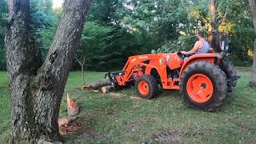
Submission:
[[[230,62],[223,62],[221,69],[226,74],[227,79],[238,76],[238,71],[235,69],[235,66]],[[232,90],[234,90],[235,86],[237,86],[237,80],[235,80],[234,82],[227,83],[229,94],[232,92]]]

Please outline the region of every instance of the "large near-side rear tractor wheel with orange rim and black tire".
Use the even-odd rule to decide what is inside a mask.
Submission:
[[[194,62],[181,77],[181,94],[186,105],[201,110],[217,110],[227,93],[224,72],[209,62]]]

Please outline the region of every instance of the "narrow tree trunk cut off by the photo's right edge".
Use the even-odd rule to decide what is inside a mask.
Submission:
[[[253,16],[254,22],[254,32],[256,34],[256,2],[254,0],[249,0],[250,10]],[[252,87],[256,86],[256,38],[254,40],[254,61],[252,66],[251,82],[249,84]]]

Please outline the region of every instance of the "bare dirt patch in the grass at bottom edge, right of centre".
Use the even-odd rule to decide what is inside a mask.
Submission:
[[[152,142],[159,142],[163,144],[168,143],[183,143],[186,139],[186,134],[182,130],[178,129],[169,129],[158,134],[154,134],[152,137]]]

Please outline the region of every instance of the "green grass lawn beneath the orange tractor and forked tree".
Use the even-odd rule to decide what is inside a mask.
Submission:
[[[86,72],[86,82],[103,76]],[[135,97],[134,90],[110,94],[80,91],[81,74],[71,72],[60,117],[67,116],[66,93],[70,93],[82,109],[79,116],[85,134],[66,138],[66,143],[158,143],[155,138],[176,138],[185,143],[256,143],[256,90],[245,88],[249,80],[249,73],[243,73],[225,105],[217,112],[205,112],[186,107],[177,90],[162,90],[152,100],[131,98]],[[6,72],[0,72],[1,142],[10,134],[7,85]]]

